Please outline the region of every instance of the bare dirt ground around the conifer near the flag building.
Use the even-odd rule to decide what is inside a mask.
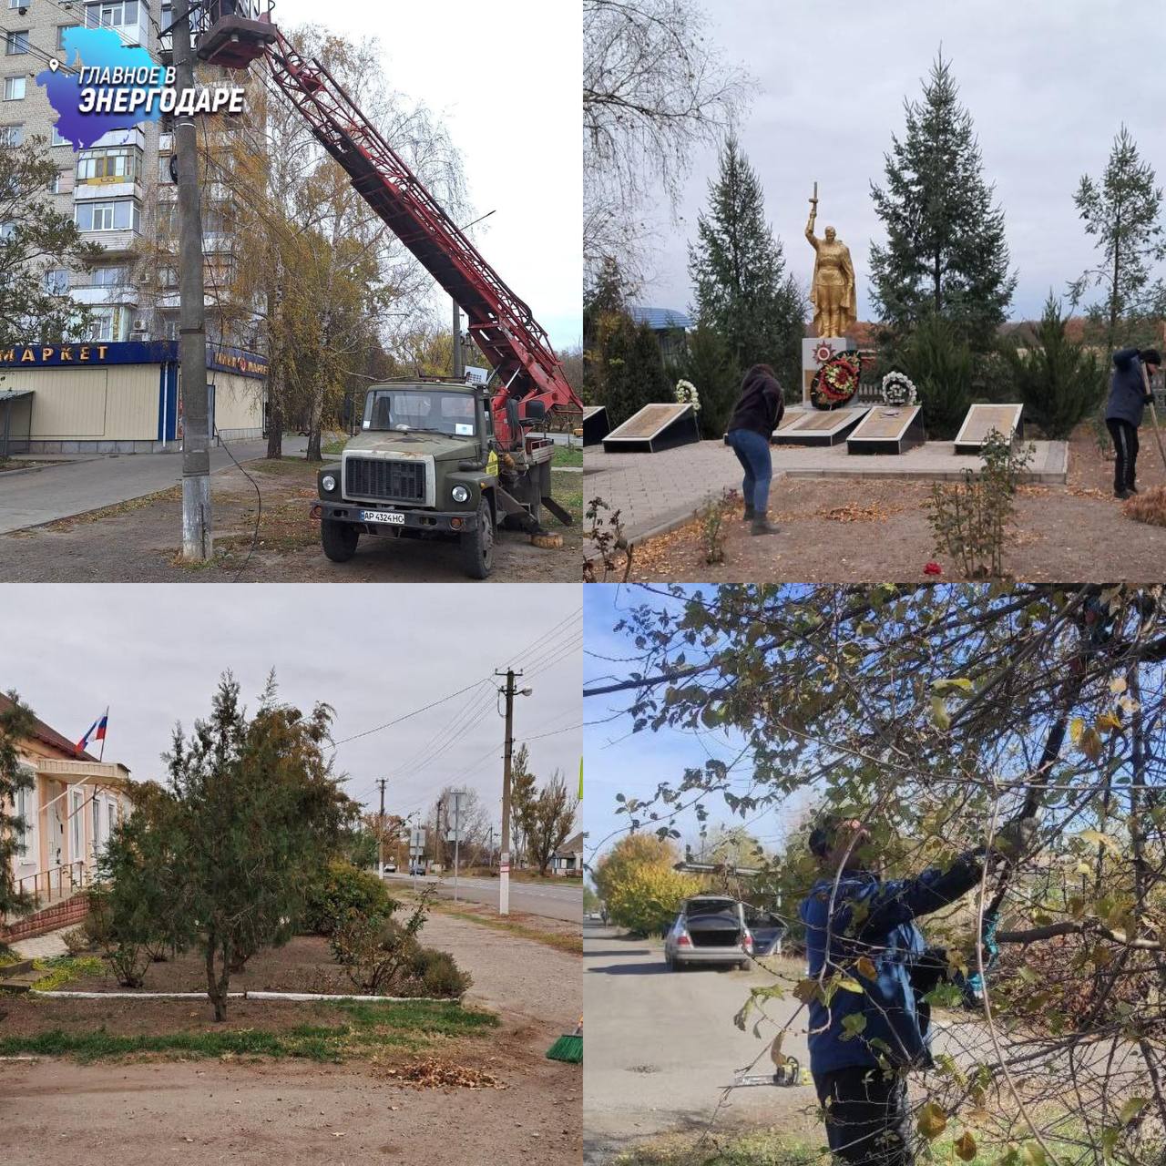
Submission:
[[[422,939],[471,972],[468,1003],[501,1014],[501,1028],[462,1042],[456,1055],[494,1073],[504,1089],[420,1090],[395,1083],[385,1065],[367,1063],[8,1062],[0,1063],[7,1144],[20,1147],[21,1166],[576,1166],[582,1067],[543,1054],[582,1011],[580,957],[436,913]],[[285,972],[305,955],[289,951]],[[128,1004],[132,1013],[145,1002]],[[14,1012],[36,1006],[21,1003],[5,1027]],[[267,1004],[233,1000],[229,1023],[278,1021]],[[303,1012],[300,1023],[308,1023]]]

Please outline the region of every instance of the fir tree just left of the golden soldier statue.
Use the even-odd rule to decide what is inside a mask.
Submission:
[[[802,296],[786,273],[781,244],[765,220],[757,173],[732,134],[709,181],[708,211],[688,248],[697,321],[724,338],[738,368],[765,363],[795,388],[805,333]]]

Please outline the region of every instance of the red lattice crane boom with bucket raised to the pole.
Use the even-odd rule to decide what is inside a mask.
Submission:
[[[500,385],[493,396],[496,433],[511,434],[507,402],[526,414],[532,401],[548,413],[581,413],[583,405],[563,374],[545,329],[529,307],[505,283],[316,59],[300,55],[271,22],[236,15],[246,6],[211,3],[209,29],[198,56],[230,69],[266,58],[281,92],[300,111],[317,141],[347,173],[352,185],[469,317],[470,336],[490,361]]]

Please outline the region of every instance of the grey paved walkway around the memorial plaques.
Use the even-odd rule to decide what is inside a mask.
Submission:
[[[1068,478],[1066,442],[1032,442],[1035,448],[1021,480],[1063,485]],[[800,478],[909,478],[913,482],[963,480],[978,470],[975,456],[956,456],[951,442],[926,442],[906,454],[847,454],[845,442],[831,447],[775,445],[773,475]],[[602,498],[620,511],[630,539],[642,540],[689,519],[726,487],[740,491],[737,456],[718,441],[681,445],[660,454],[607,454],[588,447],[584,455],[584,503]]]

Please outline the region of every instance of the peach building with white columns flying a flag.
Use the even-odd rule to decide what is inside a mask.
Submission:
[[[10,707],[0,695],[0,711]],[[17,742],[16,754],[31,786],[17,791],[15,806],[7,807],[24,823],[12,873],[36,911],[17,920],[0,919],[0,940],[6,934],[24,939],[83,919],[87,902],[79,892],[93,881],[114,826],[131,812],[129,771],[78,750],[43,721],[35,721],[31,733]]]

